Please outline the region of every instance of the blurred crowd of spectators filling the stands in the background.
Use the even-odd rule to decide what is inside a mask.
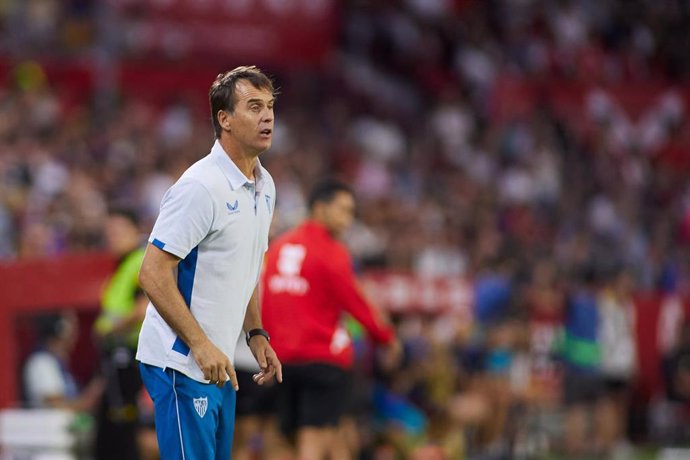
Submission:
[[[29,5],[73,21],[90,11],[25,3],[27,23],[38,21]],[[690,288],[690,4],[350,0],[341,15],[323,68],[275,72],[262,157],[278,188],[273,232],[298,223],[308,187],[335,174],[358,193],[348,243],[363,270],[466,277],[475,292],[473,324],[396,318],[406,360],[372,371],[385,383],[376,458],[676,440],[668,406],[642,435],[628,421],[632,299]],[[27,40],[30,51],[38,38]],[[112,205],[136,204],[148,232],[162,194],[212,142],[206,107],[179,95],[154,105],[123,89],[103,108],[65,101],[35,63],[6,77],[4,262],[102,248]],[[690,397],[675,318],[664,404]]]

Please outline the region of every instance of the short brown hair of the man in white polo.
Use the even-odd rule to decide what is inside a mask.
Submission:
[[[218,111],[227,110],[230,113],[235,111],[235,104],[237,102],[235,100],[235,85],[238,80],[247,80],[255,88],[267,89],[274,96],[277,95],[277,91],[273,87],[273,81],[256,66],[241,66],[225,73],[219,73],[211,84],[211,89],[208,90],[211,120],[216,139],[220,138],[222,131],[218,122]]]

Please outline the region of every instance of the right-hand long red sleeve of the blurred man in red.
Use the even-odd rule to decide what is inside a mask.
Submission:
[[[379,317],[377,311],[364,297],[347,252],[343,250],[337,257],[337,262],[330,267],[328,277],[333,292],[332,298],[342,303],[345,310],[364,326],[374,341],[390,343],[395,337],[393,329]]]

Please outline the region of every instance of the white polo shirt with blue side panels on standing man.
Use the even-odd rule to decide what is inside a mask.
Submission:
[[[177,287],[211,341],[231,360],[259,281],[275,184],[257,162],[247,179],[216,141],[166,192],[149,242],[182,259]],[[206,382],[185,344],[149,303],[137,359]]]

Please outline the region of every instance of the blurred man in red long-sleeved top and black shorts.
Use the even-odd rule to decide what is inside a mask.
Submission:
[[[326,181],[311,192],[309,209],[309,219],[268,250],[262,315],[284,363],[281,429],[296,434],[297,458],[320,460],[332,455],[350,390],[353,350],[340,326],[342,314],[350,313],[376,342],[397,352],[399,345],[357,288],[350,256],[338,241],[354,218],[352,191]]]

